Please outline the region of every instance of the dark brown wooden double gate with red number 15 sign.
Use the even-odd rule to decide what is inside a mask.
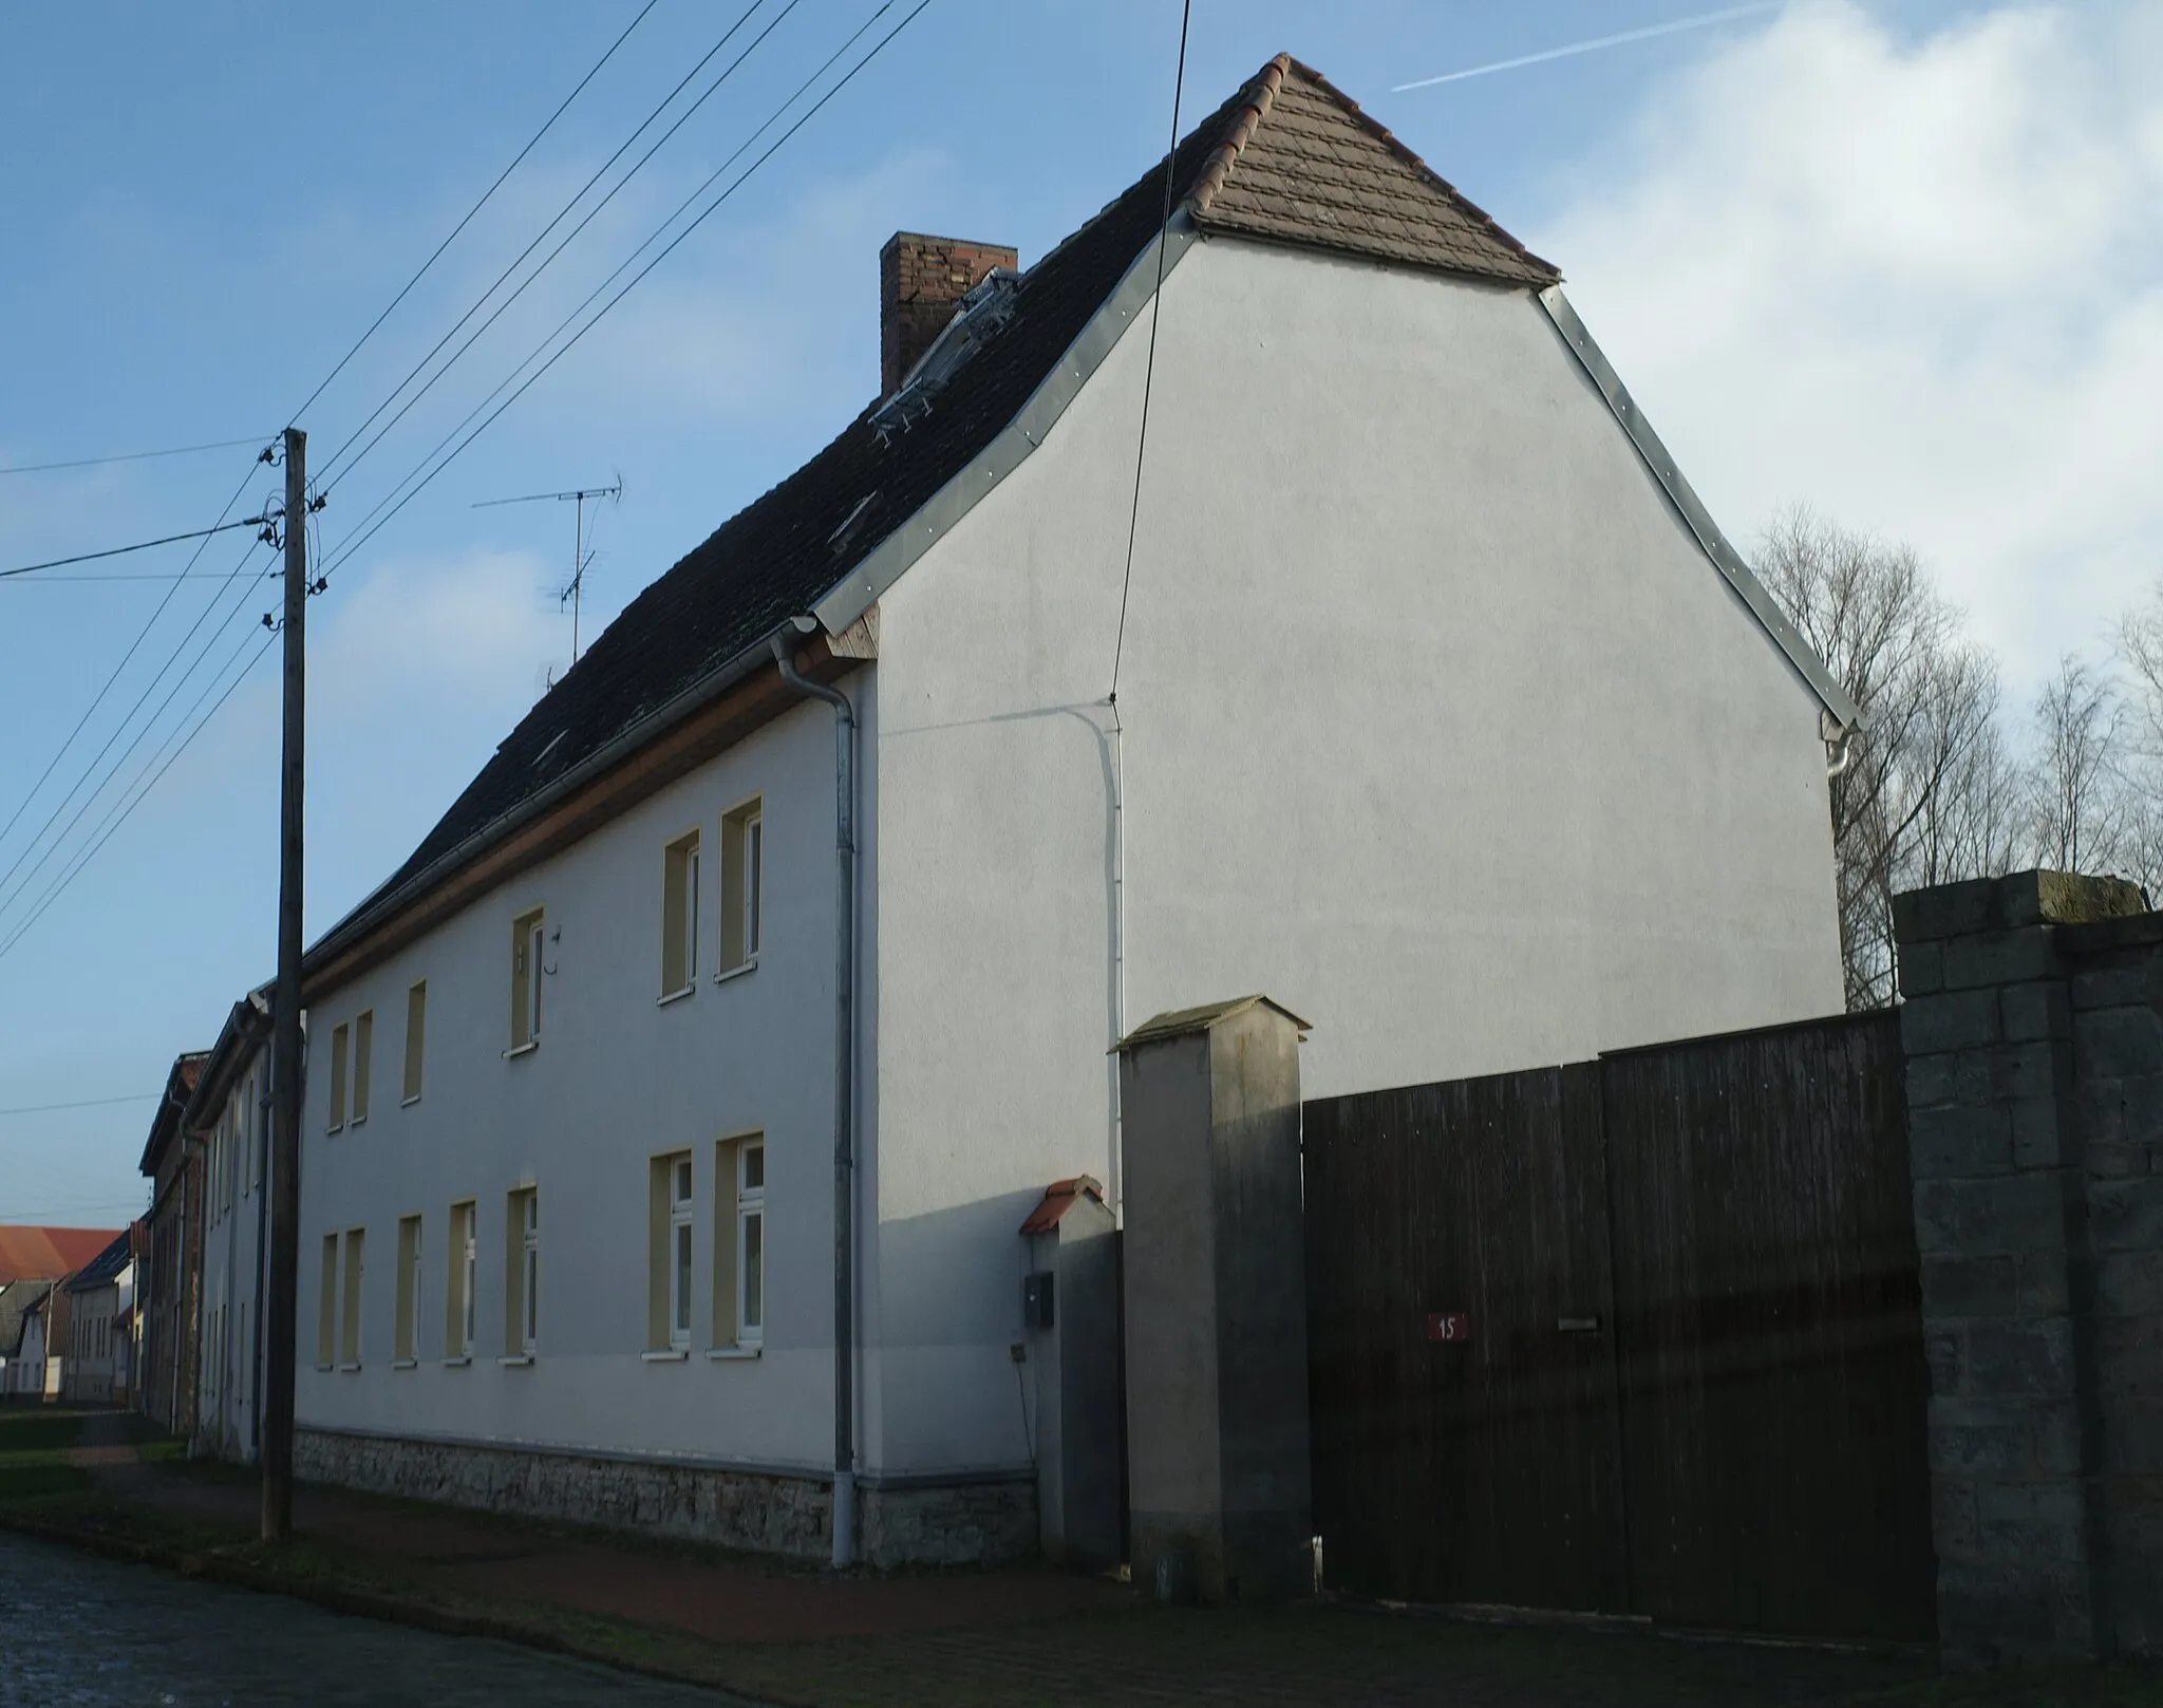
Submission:
[[[1936,1632],[1890,1014],[1306,1105],[1335,1587]]]

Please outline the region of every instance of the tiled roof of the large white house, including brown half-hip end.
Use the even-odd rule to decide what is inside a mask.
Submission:
[[[1226,233],[1544,285],[1555,270],[1386,130],[1278,56],[1175,149],[1177,199]],[[837,586],[1021,411],[1155,238],[1159,162],[1032,266],[1012,316],[885,439],[870,409],[640,592],[495,750],[413,856],[327,943],[411,878],[634,731]],[[318,951],[327,945],[318,945]]]

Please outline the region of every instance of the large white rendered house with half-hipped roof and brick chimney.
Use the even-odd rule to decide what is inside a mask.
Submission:
[[[1291,61],[1170,203],[898,236],[876,404],[314,945],[305,1475],[1021,1552],[1014,1230],[1118,1211],[1142,1016],[1315,1096],[1841,1008],[1854,707],[1555,268]]]

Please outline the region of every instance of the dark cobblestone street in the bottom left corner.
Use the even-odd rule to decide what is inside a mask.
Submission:
[[[714,1691],[182,1578],[0,1531],[0,1708],[690,1708]]]

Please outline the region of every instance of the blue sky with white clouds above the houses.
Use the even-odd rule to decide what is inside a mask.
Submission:
[[[640,4],[13,15],[0,569],[255,515],[279,491],[260,443]],[[411,852],[569,659],[573,506],[476,506],[621,480],[588,512],[590,638],[867,402],[891,231],[1012,242],[1027,264],[1168,138],[1175,0],[932,0],[361,541],[673,208],[761,156],[805,102],[725,166],[878,11],[761,0],[526,266],[757,41],[718,91],[441,383],[357,437],[742,4],[658,0],[298,413],[329,491],[309,938]],[[1726,15],[1425,82],[1707,13]],[[2163,9],[1194,0],[1185,123],[1280,50],[1564,270],[1746,553],[1797,502],[1910,543],[2016,698],[2061,651],[2098,651],[2163,573]],[[225,439],[249,443],[9,473]],[[0,577],[0,1222],[141,1213],[143,1094],[273,971],[277,651],[249,659],[275,588],[251,532]]]

